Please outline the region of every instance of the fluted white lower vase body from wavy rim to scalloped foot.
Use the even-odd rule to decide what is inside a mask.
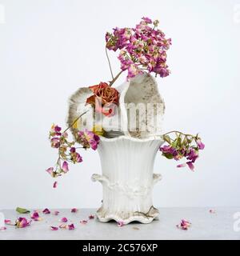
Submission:
[[[102,206],[97,211],[100,222],[150,223],[158,218],[152,202],[152,190],[161,174],[153,174],[159,137],[138,139],[129,136],[101,138],[98,146],[102,175],[92,180],[102,183]]]

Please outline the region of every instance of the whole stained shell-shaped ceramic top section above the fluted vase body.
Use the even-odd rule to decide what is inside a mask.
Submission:
[[[150,74],[138,74],[130,81],[116,87],[119,106],[111,117],[98,114],[92,106],[86,105],[86,99],[93,93],[89,88],[82,87],[70,98],[68,125],[71,125],[80,114],[73,130],[93,130],[93,126],[102,126],[108,138],[128,135],[134,138],[149,138],[161,134],[162,116],[165,105],[158,92],[158,84]]]

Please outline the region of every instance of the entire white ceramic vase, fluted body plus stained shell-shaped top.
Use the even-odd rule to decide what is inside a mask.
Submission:
[[[101,222],[113,219],[124,224],[133,221],[150,223],[158,216],[152,202],[152,190],[161,175],[153,174],[153,166],[158,148],[163,143],[160,134],[165,104],[158,92],[158,84],[150,74],[138,74],[118,86],[117,90],[120,94],[118,112],[112,117],[101,115],[100,118],[100,126],[106,133],[98,145],[102,175],[92,176],[103,187],[102,206],[97,215]],[[71,128],[74,134],[85,128],[93,130],[93,125],[99,124],[92,106],[86,104],[86,99],[92,94],[90,88],[82,87],[70,98],[69,125],[87,111]],[[133,108],[136,115],[131,118],[130,106],[139,104],[144,106],[142,113]],[[149,104],[153,104],[151,111]],[[94,122],[88,122],[93,116]],[[148,129],[142,129],[146,124]],[[136,129],[129,129],[132,126]]]

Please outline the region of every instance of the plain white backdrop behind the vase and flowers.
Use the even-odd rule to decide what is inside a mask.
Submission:
[[[158,18],[172,38],[172,74],[158,78],[166,102],[165,130],[200,133],[206,150],[195,172],[158,153],[155,206],[240,206],[239,1],[0,0],[0,209],[24,206],[98,207],[98,153],[83,152],[58,188],[46,168],[57,151],[52,122],[65,126],[67,101],[79,86],[110,79],[105,33]],[[115,74],[119,64],[110,54]],[[124,76],[118,81],[120,84]]]

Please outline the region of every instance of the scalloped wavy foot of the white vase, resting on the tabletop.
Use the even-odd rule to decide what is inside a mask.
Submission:
[[[151,206],[147,214],[141,212],[131,212],[127,214],[120,212],[112,214],[101,207],[97,210],[96,215],[100,222],[110,222],[111,220],[114,220],[115,222],[123,222],[124,225],[130,222],[140,222],[143,224],[148,224],[154,219],[158,218],[159,211],[158,209],[154,208],[154,206]]]

